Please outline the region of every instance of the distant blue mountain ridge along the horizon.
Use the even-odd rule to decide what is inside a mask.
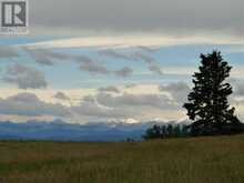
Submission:
[[[50,141],[124,141],[126,138],[141,140],[145,130],[153,124],[185,124],[187,121],[148,121],[126,123],[123,121],[90,122],[71,124],[62,120],[50,122],[28,121],[0,122],[0,140],[50,140]]]

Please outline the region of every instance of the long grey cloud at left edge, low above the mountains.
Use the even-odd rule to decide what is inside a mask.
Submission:
[[[61,104],[45,103],[32,93],[19,93],[7,99],[0,99],[0,113],[27,116],[69,116],[68,108]]]

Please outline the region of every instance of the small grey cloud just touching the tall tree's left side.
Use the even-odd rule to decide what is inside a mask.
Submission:
[[[186,99],[190,92],[190,87],[184,82],[170,83],[166,85],[160,85],[159,90],[162,92],[169,92],[173,100],[182,104]]]

